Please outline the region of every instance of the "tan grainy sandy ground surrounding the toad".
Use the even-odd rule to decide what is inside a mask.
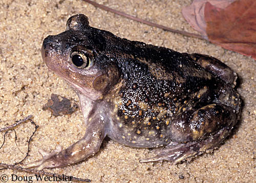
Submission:
[[[182,7],[191,0],[96,2],[195,33],[181,14]],[[42,40],[64,31],[67,19],[78,13],[86,14],[94,27],[123,38],[219,58],[239,75],[238,91],[244,102],[242,118],[233,135],[219,149],[176,166],[168,162],[141,164],[139,159],[153,156],[152,150],[126,147],[106,139],[100,151],[88,160],[47,171],[90,178],[92,182],[255,182],[256,62],[207,41],[152,28],[78,0],[0,2],[0,127],[31,114],[39,125],[25,163],[41,159],[38,149],[51,151],[57,145],[68,147],[84,134],[80,110],[61,117],[42,110],[51,93],[78,102],[70,86],[42,62],[40,51]],[[6,143],[0,149],[1,162],[13,164],[25,156],[34,127],[26,122],[15,129],[16,144],[14,132],[8,133]],[[3,140],[4,133],[0,144]],[[9,176],[8,182],[13,182],[11,174],[34,177],[13,170],[1,170],[2,174]]]

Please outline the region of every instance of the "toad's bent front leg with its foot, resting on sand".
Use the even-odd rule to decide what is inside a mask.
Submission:
[[[104,122],[94,117],[87,124],[86,134],[81,140],[64,150],[57,147],[52,153],[42,151],[40,153],[43,159],[28,164],[27,167],[37,167],[38,170],[65,167],[94,155],[105,137]]]

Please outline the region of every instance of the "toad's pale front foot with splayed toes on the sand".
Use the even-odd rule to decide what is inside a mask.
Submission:
[[[26,168],[36,167],[38,170],[42,170],[44,168],[55,168],[55,167],[63,167],[66,164],[59,161],[58,154],[62,151],[61,146],[57,146],[55,150],[48,153],[44,150],[39,150],[39,153],[42,155],[42,160],[38,160],[32,163],[25,165]]]

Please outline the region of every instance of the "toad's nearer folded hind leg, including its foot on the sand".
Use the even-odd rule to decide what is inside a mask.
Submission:
[[[154,158],[140,162],[167,160],[176,164],[201,154],[223,142],[236,122],[237,114],[223,104],[210,104],[197,111],[184,112],[172,121],[172,142]]]

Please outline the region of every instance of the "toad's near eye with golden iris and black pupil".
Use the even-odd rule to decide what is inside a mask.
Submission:
[[[92,64],[91,59],[79,51],[72,52],[70,57],[72,64],[79,69],[87,68]]]

